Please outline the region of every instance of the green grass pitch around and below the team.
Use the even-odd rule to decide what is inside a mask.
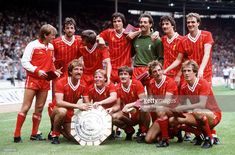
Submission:
[[[235,91],[225,89],[223,87],[214,88],[216,95],[235,95]],[[226,97],[226,96],[224,96]],[[220,103],[221,104],[221,103]],[[40,130],[46,137],[50,129],[49,117],[47,115],[47,109],[43,112],[43,118],[40,125]],[[155,144],[138,144],[135,140],[131,142],[124,141],[123,138],[116,139],[114,141],[105,141],[100,146],[80,146],[74,143],[68,142],[62,136],[60,137],[60,145],[52,145],[50,141],[30,141],[29,136],[31,134],[31,119],[32,112],[27,115],[26,121],[22,128],[23,143],[13,143],[13,132],[15,128],[15,119],[17,112],[14,113],[2,113],[0,114],[0,155],[1,154],[85,154],[85,155],[126,155],[126,154],[167,154],[167,155],[199,155],[199,154],[233,154],[235,146],[235,112],[223,112],[222,121],[216,127],[217,134],[220,137],[222,144],[214,145],[211,149],[202,149],[200,146],[194,146],[192,143],[183,142],[176,143],[176,139],[170,141],[168,148],[156,148]]]

